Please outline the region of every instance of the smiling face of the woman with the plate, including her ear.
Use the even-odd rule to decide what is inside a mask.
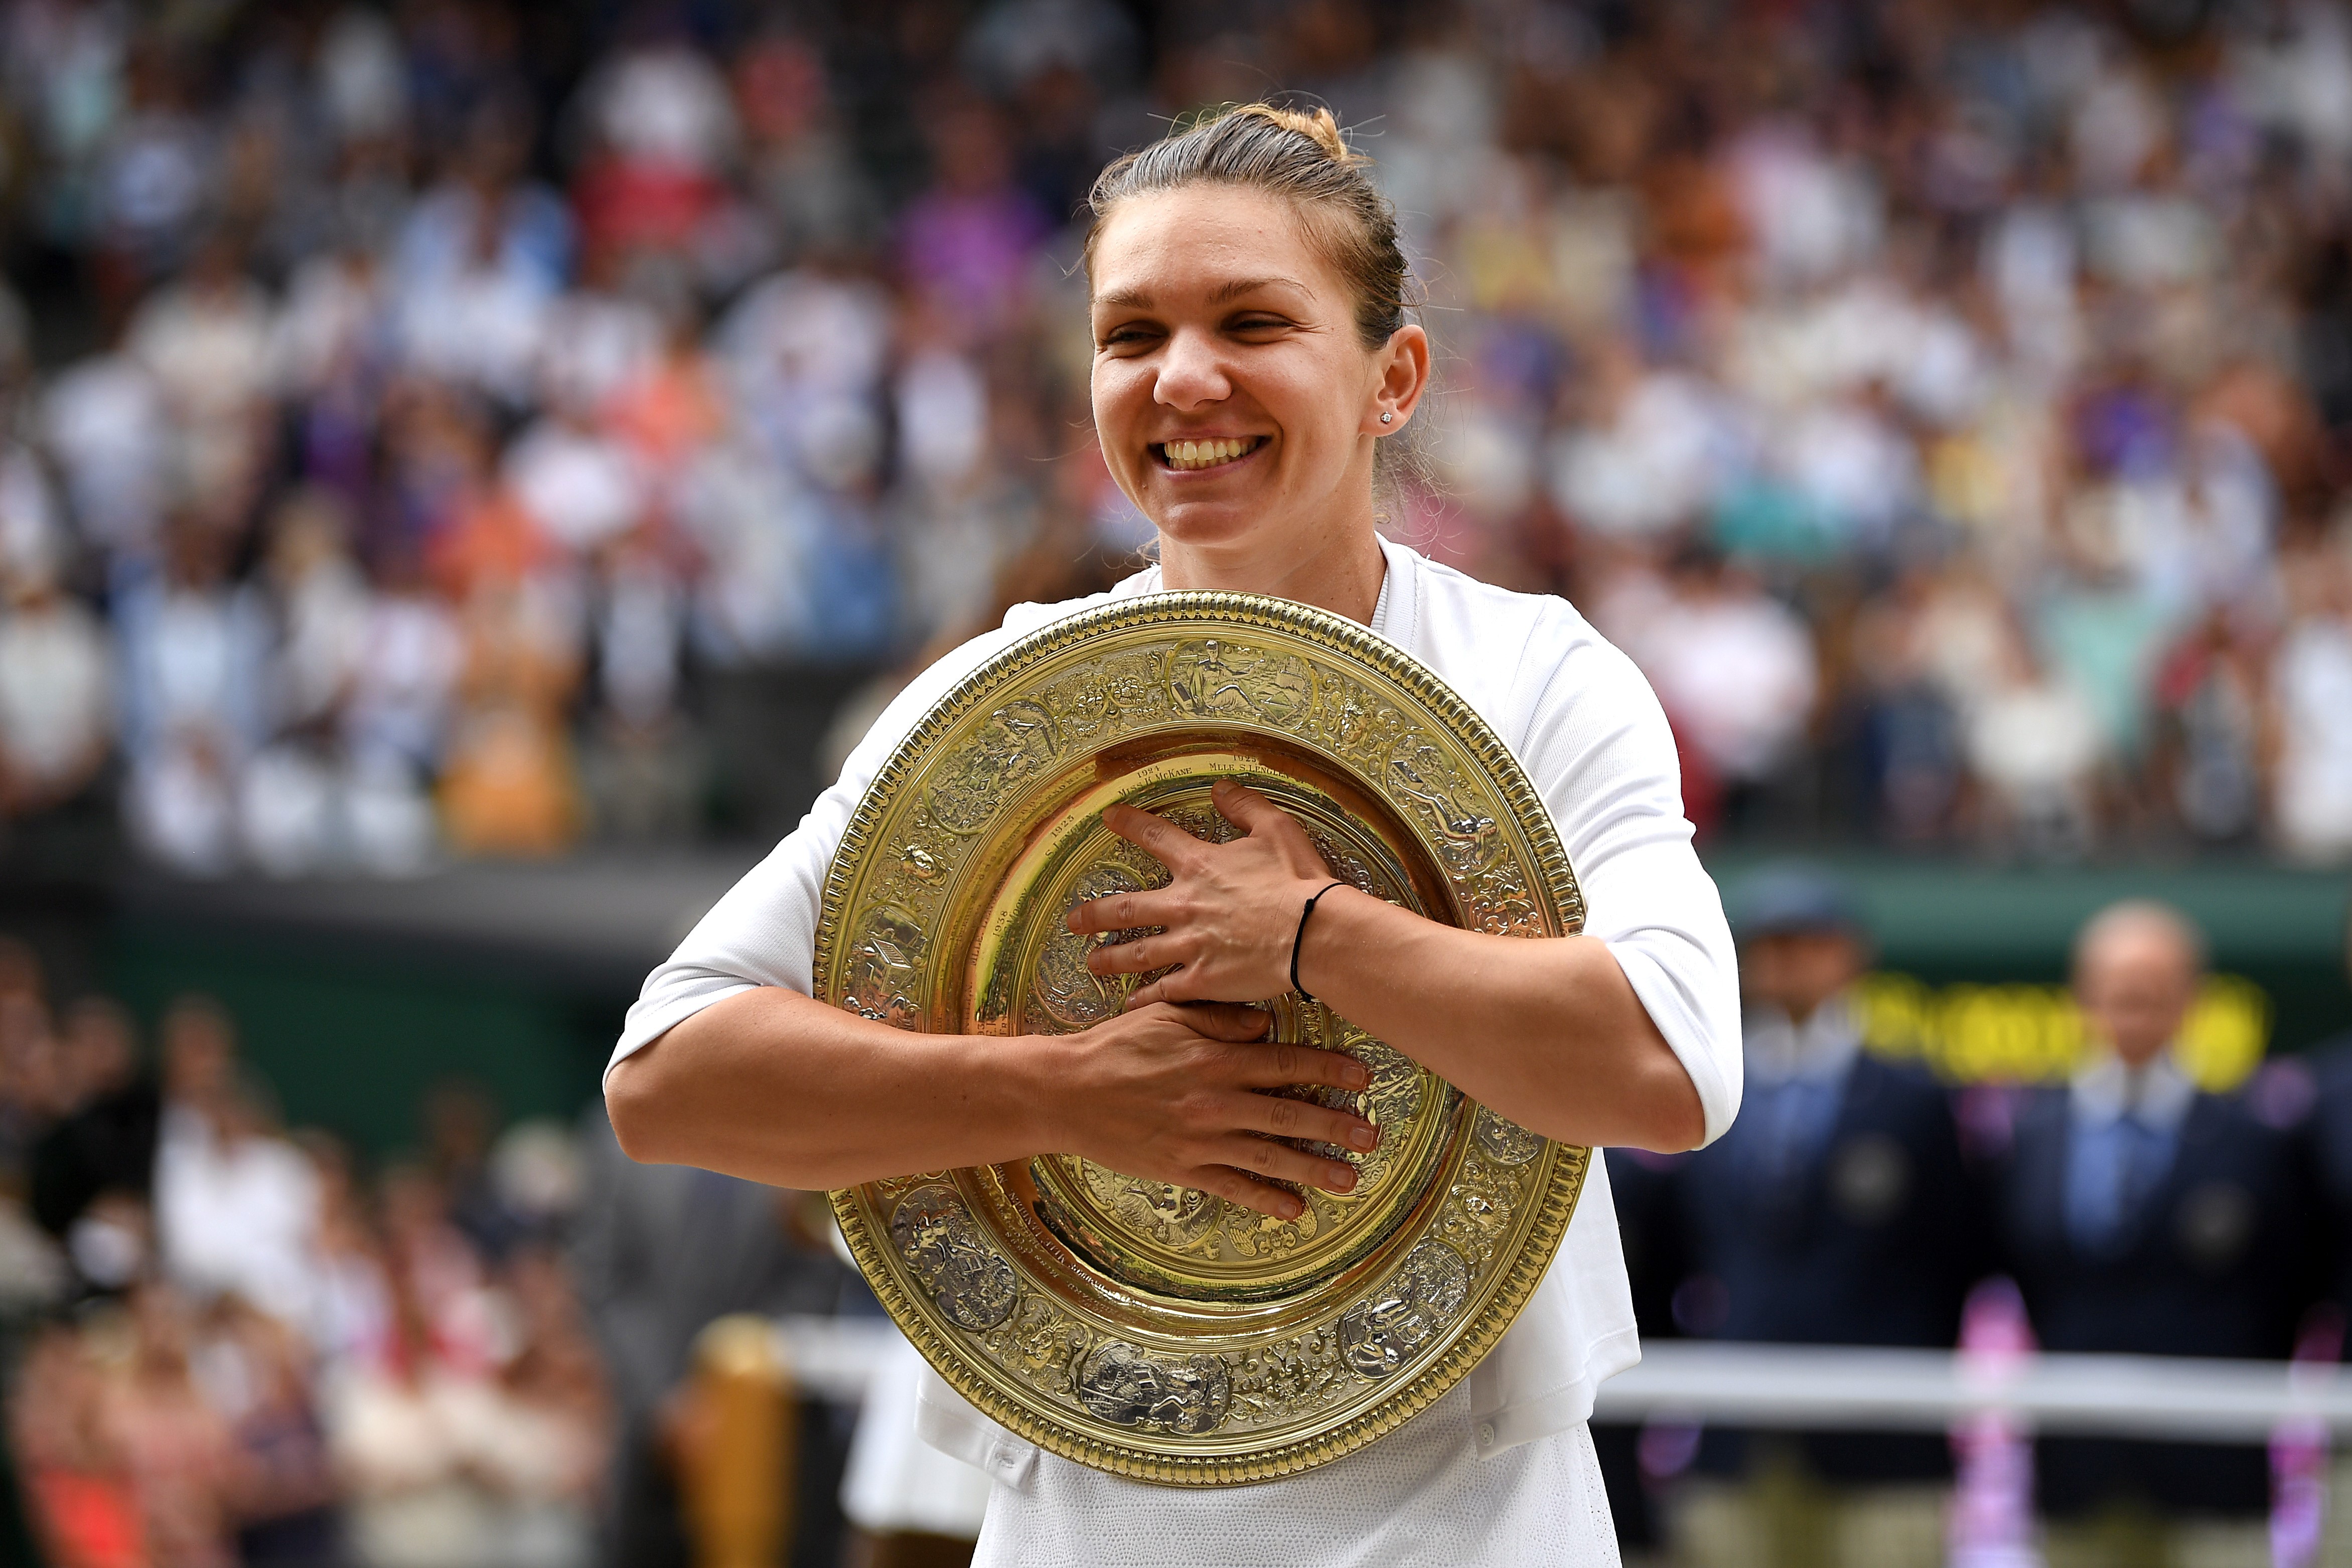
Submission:
[[[1348,284],[1282,197],[1185,186],[1110,209],[1094,428],[1164,541],[1249,555],[1369,531],[1374,440],[1404,428],[1425,376],[1418,327],[1362,346]]]

